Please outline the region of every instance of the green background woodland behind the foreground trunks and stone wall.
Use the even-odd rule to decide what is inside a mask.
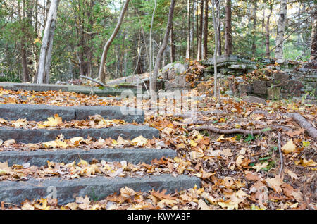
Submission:
[[[228,2],[231,4],[232,54],[251,58],[275,57],[273,48],[281,4],[278,0],[216,1],[218,55],[225,54]],[[308,61],[311,57],[314,1],[285,2],[284,58]],[[49,82],[76,79],[80,75],[98,76],[104,44],[116,27],[123,4],[124,1],[119,0],[59,1]],[[35,81],[50,5],[49,0],[1,1],[1,81]],[[149,71],[150,30],[154,67],[166,31],[170,1],[157,0],[151,29],[154,6],[154,0],[130,1],[120,30],[108,49],[106,79]],[[185,58],[196,60],[213,56],[215,38],[211,7],[212,1],[208,0],[175,2],[173,26],[161,67]]]

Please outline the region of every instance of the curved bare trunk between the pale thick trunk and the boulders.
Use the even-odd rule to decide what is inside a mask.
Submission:
[[[115,28],[115,30],[113,30],[113,33],[112,33],[111,37],[108,39],[108,41],[106,42],[106,44],[104,46],[104,51],[102,52],[101,62],[100,62],[100,67],[99,67],[99,80],[103,83],[105,82],[105,79],[106,79],[106,73],[104,72],[104,67],[106,64],[106,57],[108,54],[108,49],[109,49],[111,43],[113,42],[113,39],[116,37],[119,29],[120,29],[120,26],[123,22],[123,18],[125,16],[125,12],[128,9],[129,1],[130,0],[125,0],[125,4],[123,5],[123,8],[121,9],[119,20],[118,20],[118,23],[116,25],[116,28]]]

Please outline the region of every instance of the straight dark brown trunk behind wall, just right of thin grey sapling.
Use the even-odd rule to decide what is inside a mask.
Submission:
[[[231,0],[225,1],[225,56],[232,54]]]

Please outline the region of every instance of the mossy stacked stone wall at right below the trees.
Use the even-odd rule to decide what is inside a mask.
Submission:
[[[203,61],[206,67],[205,77],[213,76],[213,58]],[[317,70],[300,66],[296,61],[274,60],[260,58],[251,61],[243,56],[221,56],[217,59],[218,77],[230,80],[230,90],[228,94],[240,96],[251,95],[265,99],[281,99],[306,97],[312,99],[317,97]],[[248,80],[248,73],[256,69],[268,68],[273,71],[269,80]]]

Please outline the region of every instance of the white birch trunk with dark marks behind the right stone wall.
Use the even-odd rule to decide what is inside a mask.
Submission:
[[[286,15],[287,15],[287,0],[280,0],[280,18],[278,18],[278,32],[276,35],[276,48],[275,48],[275,58],[278,58],[278,59],[281,59],[284,57],[283,42],[284,42]]]

